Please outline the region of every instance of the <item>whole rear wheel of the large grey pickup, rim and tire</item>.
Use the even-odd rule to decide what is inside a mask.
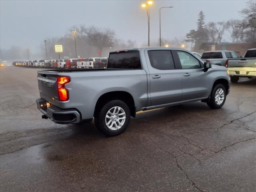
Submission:
[[[94,122],[98,130],[106,136],[116,136],[126,130],[130,122],[130,109],[121,100],[106,103],[96,112]]]

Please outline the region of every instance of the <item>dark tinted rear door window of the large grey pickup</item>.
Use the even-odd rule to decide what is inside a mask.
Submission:
[[[174,69],[174,61],[170,50],[148,51],[150,64],[160,70]]]

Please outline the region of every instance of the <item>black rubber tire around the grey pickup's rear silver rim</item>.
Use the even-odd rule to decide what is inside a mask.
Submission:
[[[121,107],[124,110],[126,118],[124,120],[124,124],[120,128],[118,128],[117,130],[112,130],[112,129],[108,128],[108,126],[106,125],[105,118],[106,118],[107,112],[115,106]],[[130,118],[131,118],[130,109],[127,106],[127,104],[121,100],[112,100],[112,101],[106,103],[101,108],[101,110],[96,112],[96,114],[94,116],[94,122],[95,122],[96,128],[98,128],[98,130],[102,134],[104,134],[106,136],[116,136],[116,135],[119,135],[122,132],[124,132],[124,130],[126,130],[126,128],[129,125]]]

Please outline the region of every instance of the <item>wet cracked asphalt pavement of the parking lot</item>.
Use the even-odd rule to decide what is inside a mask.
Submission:
[[[36,70],[0,70],[0,190],[256,191],[256,79],[202,102],[143,112],[107,138],[93,122],[41,119]]]

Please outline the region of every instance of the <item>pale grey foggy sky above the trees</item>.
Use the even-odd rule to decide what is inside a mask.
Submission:
[[[147,42],[146,10],[141,0],[127,1],[0,1],[0,48],[12,45],[29,46],[40,52],[45,38],[63,36],[67,28],[86,24],[111,28],[124,40],[135,40],[138,46]],[[185,37],[196,29],[198,13],[202,10],[207,22],[242,19],[238,11],[245,1],[154,1],[150,6],[150,40],[156,41],[158,9],[162,10],[162,38]]]

